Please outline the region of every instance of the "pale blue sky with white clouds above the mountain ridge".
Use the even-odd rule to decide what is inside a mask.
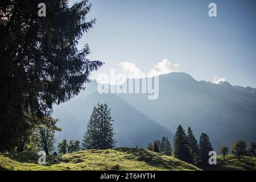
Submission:
[[[70,0],[72,5],[75,0]],[[150,76],[185,72],[196,80],[256,88],[255,0],[91,0],[97,18],[79,48],[110,69]],[[210,17],[209,3],[217,17]]]

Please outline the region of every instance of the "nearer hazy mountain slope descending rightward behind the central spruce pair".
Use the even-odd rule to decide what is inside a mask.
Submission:
[[[93,106],[107,104],[111,108],[114,138],[117,147],[146,147],[149,142],[163,136],[172,138],[173,133],[148,118],[115,94],[99,94],[97,82],[91,81],[79,96],[53,108],[53,118],[63,130],[56,133],[57,143],[67,139],[82,141]]]

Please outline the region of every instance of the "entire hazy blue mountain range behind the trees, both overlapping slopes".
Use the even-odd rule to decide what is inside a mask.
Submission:
[[[256,141],[254,88],[196,81],[186,73],[159,76],[157,100],[148,100],[148,94],[99,94],[96,81],[86,87],[71,101],[54,106],[53,117],[60,119],[58,125],[63,128],[56,134],[57,142],[81,140],[98,102],[112,108],[118,147],[146,147],[164,135],[172,144],[178,125],[184,129],[191,126],[197,140],[202,132],[207,133],[216,151],[220,146],[230,147],[237,139]]]

